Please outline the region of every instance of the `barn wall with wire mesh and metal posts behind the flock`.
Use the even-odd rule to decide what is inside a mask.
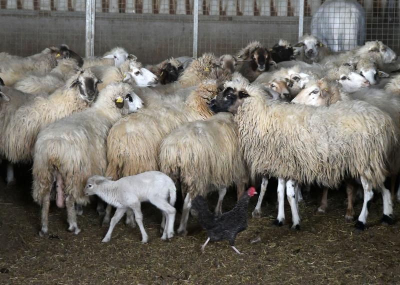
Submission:
[[[27,56],[46,46],[66,43],[81,55],[93,56],[121,46],[143,63],[204,52],[235,54],[252,40],[267,47],[279,39],[294,45],[300,36],[311,32],[311,16],[322,3],[323,0],[1,0],[0,50]],[[360,4],[365,10],[364,40],[380,40],[400,52],[399,1],[361,0]],[[340,12],[340,7],[335,9],[329,17],[337,22],[345,18],[351,23],[351,13]]]

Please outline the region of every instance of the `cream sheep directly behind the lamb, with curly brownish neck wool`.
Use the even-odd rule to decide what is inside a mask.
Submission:
[[[116,180],[159,170],[157,155],[161,140],[183,123],[212,116],[207,104],[217,92],[218,83],[207,80],[194,90],[182,90],[175,96],[155,99],[152,94],[148,97],[142,95],[146,108],[122,118],[110,129],[105,176]],[[103,224],[108,223],[110,211],[110,206],[107,206]]]

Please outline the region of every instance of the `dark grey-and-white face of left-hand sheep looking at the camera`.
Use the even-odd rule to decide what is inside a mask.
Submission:
[[[89,70],[79,70],[77,79],[73,81],[71,88],[79,88],[80,98],[88,103],[92,103],[98,94],[97,84],[101,80]]]

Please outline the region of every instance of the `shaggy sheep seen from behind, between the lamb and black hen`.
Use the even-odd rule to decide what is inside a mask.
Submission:
[[[187,233],[190,202],[197,195],[206,196],[213,188],[218,189],[215,213],[219,215],[226,187],[236,184],[238,198],[244,192],[248,179],[237,146],[237,127],[229,113],[189,122],[162,140],[160,171],[179,180],[182,194],[186,194],[179,234]]]

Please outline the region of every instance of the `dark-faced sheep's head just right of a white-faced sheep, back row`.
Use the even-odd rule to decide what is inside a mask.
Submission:
[[[175,82],[183,72],[182,64],[174,58],[164,60],[157,65],[148,65],[146,69],[157,76],[158,82],[162,85]]]

